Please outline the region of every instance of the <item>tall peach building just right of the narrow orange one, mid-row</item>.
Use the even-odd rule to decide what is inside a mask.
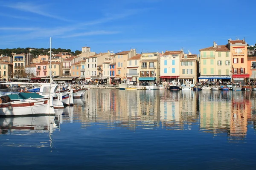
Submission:
[[[127,79],[127,60],[136,55],[136,49],[116,53],[116,79]]]

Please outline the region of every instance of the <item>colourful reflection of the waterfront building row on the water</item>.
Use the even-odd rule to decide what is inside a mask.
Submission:
[[[213,136],[243,139],[248,123],[256,127],[255,99],[249,91],[90,89],[88,98],[75,101],[73,119],[82,128],[104,124],[108,129],[190,130],[195,125]]]

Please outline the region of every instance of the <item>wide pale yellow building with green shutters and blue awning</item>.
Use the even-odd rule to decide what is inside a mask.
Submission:
[[[231,56],[228,45],[217,45],[203,48],[200,51],[201,81],[231,81]]]

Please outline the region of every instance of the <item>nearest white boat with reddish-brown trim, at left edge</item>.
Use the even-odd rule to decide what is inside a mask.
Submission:
[[[17,96],[17,94],[12,94]],[[0,96],[0,116],[27,116],[55,114],[53,99],[19,99],[12,101],[8,95]]]

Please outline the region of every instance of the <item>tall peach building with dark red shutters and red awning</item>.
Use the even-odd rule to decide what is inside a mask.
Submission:
[[[250,79],[247,70],[247,43],[243,40],[228,40],[231,53],[233,82],[246,83]]]

